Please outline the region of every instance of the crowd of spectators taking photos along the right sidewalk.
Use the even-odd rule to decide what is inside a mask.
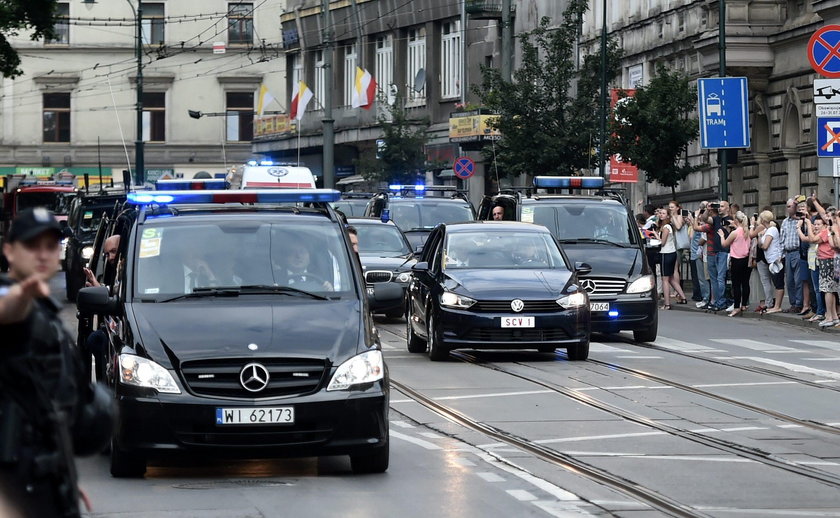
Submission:
[[[838,216],[815,193],[787,200],[781,220],[770,207],[748,216],[726,200],[703,201],[694,212],[676,201],[663,207],[640,202],[640,209],[636,221],[658,272],[662,309],[689,303],[680,274],[687,262],[698,308],[726,310],[730,317],[750,310],[795,313],[820,327],[840,327]]]

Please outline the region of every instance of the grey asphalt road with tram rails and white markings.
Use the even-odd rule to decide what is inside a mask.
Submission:
[[[840,337],[660,318],[653,344],[593,335],[587,362],[443,363],[406,351],[404,320],[379,319],[395,382],[387,473],[354,476],[343,457],[207,459],[130,480],[94,456],[78,461],[88,516],[840,516]]]

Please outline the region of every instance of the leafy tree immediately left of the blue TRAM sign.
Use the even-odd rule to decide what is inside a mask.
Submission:
[[[703,166],[686,160],[688,145],[699,133],[697,89],[689,78],[662,65],[647,86],[618,103],[612,122],[613,148],[622,160],[645,171],[648,181],[670,187]]]

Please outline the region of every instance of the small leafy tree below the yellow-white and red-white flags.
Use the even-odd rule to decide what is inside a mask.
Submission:
[[[393,105],[383,99],[379,101],[387,107],[387,114],[378,117],[382,145],[364,153],[356,160],[356,167],[365,180],[413,182],[426,167],[429,120],[409,118],[405,98],[401,95],[397,96]]]

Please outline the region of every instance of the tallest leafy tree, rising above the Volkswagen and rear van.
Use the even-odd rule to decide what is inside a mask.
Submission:
[[[587,2],[571,0],[557,27],[543,18],[539,27],[519,36],[522,63],[505,81],[496,69],[482,68],[473,87],[482,105],[499,114],[502,139],[485,156],[495,156],[499,176],[569,174],[596,165],[600,110],[600,53],[575,67],[578,27]],[[621,50],[608,44],[607,81],[619,70]],[[575,79],[577,92],[574,90]],[[577,95],[575,95],[575,93]]]

